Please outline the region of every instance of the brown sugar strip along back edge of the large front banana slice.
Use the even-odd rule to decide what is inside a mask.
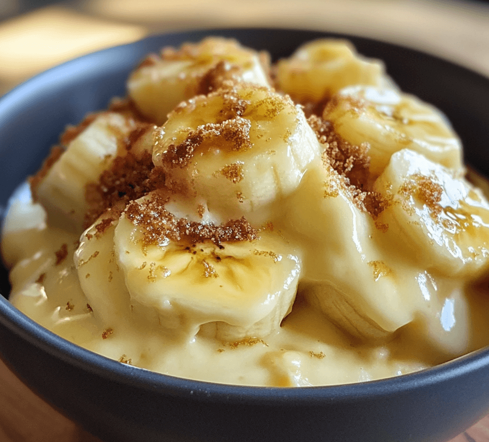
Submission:
[[[162,194],[154,192],[152,197],[143,202],[131,201],[125,210],[126,217],[135,226],[143,228],[144,245],[162,244],[168,239],[186,239],[192,244],[211,240],[219,245],[224,241],[253,241],[258,238],[258,232],[245,217],[220,226],[195,223],[186,218],[176,218],[166,210],[166,199]]]

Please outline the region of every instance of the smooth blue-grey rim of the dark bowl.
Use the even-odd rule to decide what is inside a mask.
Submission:
[[[390,43],[383,40],[369,38],[354,34],[343,34],[329,31],[307,30],[299,28],[280,28],[280,27],[237,27],[237,28],[215,28],[215,29],[192,29],[188,31],[176,31],[161,34],[148,35],[145,38],[117,45],[110,48],[92,52],[80,57],[68,60],[60,65],[38,73],[36,76],[24,81],[11,91],[0,97],[0,116],[8,112],[11,106],[16,106],[16,102],[22,95],[31,93],[39,86],[49,85],[53,81],[53,73],[65,75],[76,72],[75,66],[84,64],[87,59],[93,57],[105,57],[110,51],[119,51],[127,47],[142,46],[151,41],[158,41],[168,36],[188,36],[189,39],[195,36],[215,35],[220,33],[246,32],[250,30],[268,32],[303,32],[317,36],[332,36],[335,38],[346,38],[352,40],[362,40],[390,46],[392,48],[402,48],[415,54],[421,54],[430,59],[435,59],[450,68],[462,69],[464,75],[469,75],[474,80],[484,82],[489,87],[489,78],[481,73],[475,72],[457,62],[446,60],[437,55],[432,55],[422,50],[413,49],[398,43]],[[80,75],[80,72],[75,75]],[[83,69],[81,69],[83,75]],[[0,120],[0,128],[2,121]],[[0,208],[1,209],[1,208]],[[2,225],[4,222],[3,214],[0,211]],[[379,380],[355,382],[349,384],[310,386],[310,387],[264,387],[248,385],[219,384],[206,381],[178,378],[175,376],[159,374],[140,367],[128,365],[116,360],[107,358],[94,353],[83,347],[61,338],[39,325],[16,307],[8,299],[0,295],[0,323],[6,326],[17,336],[26,342],[36,346],[64,362],[76,366],[86,372],[90,372],[101,378],[110,378],[125,385],[137,385],[139,388],[154,392],[165,392],[172,396],[192,397],[202,401],[212,401],[220,403],[256,403],[267,404],[268,406],[280,406],[285,401],[293,400],[298,406],[314,406],[335,399],[341,402],[353,402],[359,398],[381,398],[391,394],[399,394],[410,391],[414,388],[433,386],[477,371],[489,366],[489,346],[475,350],[450,361],[423,369],[414,373],[403,374],[391,378]]]

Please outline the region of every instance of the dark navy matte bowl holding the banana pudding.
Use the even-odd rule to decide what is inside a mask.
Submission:
[[[393,44],[323,32],[214,29],[152,36],[69,61],[0,100],[0,208],[35,172],[68,123],[125,94],[129,71],[150,51],[214,34],[267,49],[274,59],[324,36],[350,39],[383,59],[408,92],[438,106],[465,145],[465,160],[489,176],[489,80]],[[5,213],[5,210],[0,210]],[[489,412],[489,350],[432,369],[349,385],[268,388],[159,375],[77,347],[8,302],[0,274],[0,355],[35,393],[93,434],[114,441],[442,442]]]

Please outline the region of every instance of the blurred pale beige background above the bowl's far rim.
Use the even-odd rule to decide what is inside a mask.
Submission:
[[[148,34],[232,26],[371,36],[489,77],[487,1],[0,0],[0,95],[63,61]]]

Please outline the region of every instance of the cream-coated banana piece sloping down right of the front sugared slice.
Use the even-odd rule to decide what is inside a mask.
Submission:
[[[304,249],[313,250],[304,256],[299,291],[361,339],[385,337],[412,321],[426,309],[423,290],[436,291],[429,278],[419,283],[421,270],[406,265],[398,250],[380,244],[369,197],[328,164],[311,167],[288,200],[286,215],[303,236]]]

